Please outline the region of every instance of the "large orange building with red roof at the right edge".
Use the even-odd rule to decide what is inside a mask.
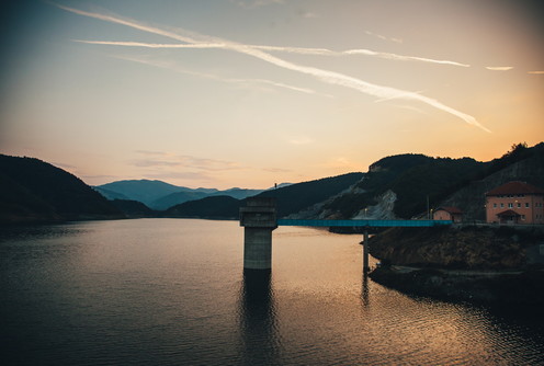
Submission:
[[[514,181],[489,191],[486,193],[486,220],[498,224],[544,224],[544,190]]]

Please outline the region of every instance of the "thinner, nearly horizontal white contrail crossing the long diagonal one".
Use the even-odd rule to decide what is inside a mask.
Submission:
[[[141,43],[141,42],[115,42],[115,41],[82,41],[75,39],[76,42],[87,43],[92,45],[110,45],[110,46],[126,46],[126,47],[145,47],[145,48],[225,48],[227,44],[225,43],[209,43],[209,44],[163,44],[163,43]],[[280,47],[280,46],[262,46],[262,45],[248,45],[248,47],[269,50],[269,52],[282,52],[298,55],[316,55],[316,56],[349,56],[349,55],[365,55],[375,56],[379,58],[399,60],[399,61],[420,61],[430,64],[441,64],[441,65],[452,65],[461,67],[471,67],[471,65],[460,64],[449,60],[437,60],[432,58],[416,57],[416,56],[403,56],[390,53],[379,53],[371,49],[348,49],[348,50],[330,50],[327,48],[303,48],[303,47]]]

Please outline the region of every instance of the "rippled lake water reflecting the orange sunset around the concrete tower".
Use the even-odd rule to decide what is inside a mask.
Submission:
[[[544,365],[544,310],[385,288],[360,236],[281,227],[259,278],[236,221],[0,230],[1,365]]]

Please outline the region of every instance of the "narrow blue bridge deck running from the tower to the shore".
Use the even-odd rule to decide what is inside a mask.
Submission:
[[[351,228],[424,228],[452,225],[450,220],[296,220],[279,219],[279,226],[351,227]]]

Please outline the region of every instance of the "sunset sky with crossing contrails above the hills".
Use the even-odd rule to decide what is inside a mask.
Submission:
[[[90,185],[268,188],[544,140],[540,1],[2,3],[0,153]]]

